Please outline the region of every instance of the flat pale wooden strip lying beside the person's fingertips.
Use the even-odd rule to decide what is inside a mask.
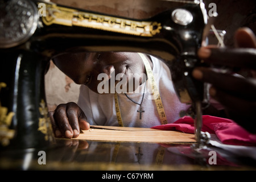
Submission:
[[[195,135],[182,133],[180,131],[164,131],[133,127],[122,127],[123,130],[112,130],[110,128],[113,127],[108,127],[108,129],[82,130],[82,133],[76,139],[111,142],[196,142]]]

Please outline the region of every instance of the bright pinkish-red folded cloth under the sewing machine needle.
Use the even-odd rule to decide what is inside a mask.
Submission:
[[[183,117],[167,125],[151,127],[159,130],[177,130],[184,133],[195,133],[194,121],[191,117]],[[203,115],[202,130],[210,134],[216,134],[224,144],[256,146],[256,134],[251,134],[236,122],[220,117]]]

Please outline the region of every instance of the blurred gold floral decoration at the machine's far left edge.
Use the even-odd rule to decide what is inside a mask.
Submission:
[[[0,91],[5,87],[6,84],[0,82]],[[0,143],[2,146],[7,146],[10,143],[10,139],[14,137],[15,130],[9,129],[13,116],[14,112],[8,113],[8,108],[2,107],[0,102]]]

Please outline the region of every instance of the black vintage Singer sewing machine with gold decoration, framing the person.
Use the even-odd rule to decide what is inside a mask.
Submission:
[[[2,3],[4,2],[4,3]],[[0,143],[2,150],[44,148],[55,142],[48,118],[44,75],[63,52],[129,51],[162,59],[180,101],[192,104],[196,141],[207,90],[191,76],[196,52],[209,31],[202,1],[177,1],[149,19],[127,19],[55,3],[1,1]]]

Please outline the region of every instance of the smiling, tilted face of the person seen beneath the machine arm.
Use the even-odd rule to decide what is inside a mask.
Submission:
[[[133,76],[133,74],[145,73],[141,57],[138,53],[134,52],[67,53],[57,56],[53,59],[53,62],[65,75],[75,81],[76,84],[84,84],[96,93],[99,93],[98,84],[102,82],[102,79],[98,80],[98,75],[101,73],[105,73],[105,76],[108,77],[109,90],[111,86],[113,87],[113,84],[110,83],[110,78],[113,79],[113,76],[116,78],[121,73],[124,74],[122,78],[126,78],[127,81],[133,79],[133,83],[139,82],[141,84],[142,78]],[[131,76],[133,77],[131,78]],[[115,85],[117,85],[122,78],[115,78]],[[127,84],[127,91],[128,88],[129,84]],[[135,89],[137,88],[133,85],[133,91]]]

